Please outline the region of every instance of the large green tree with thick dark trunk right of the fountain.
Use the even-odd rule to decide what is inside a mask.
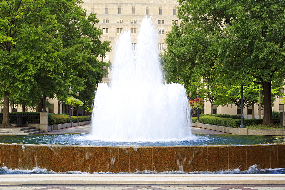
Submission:
[[[178,63],[212,65],[229,84],[251,80],[263,89],[263,125],[273,124],[271,83],[284,80],[285,2],[278,0],[178,0],[180,26],[167,43]],[[179,34],[179,35],[176,35]],[[175,38],[175,37],[178,38]],[[213,57],[215,57],[213,59]],[[174,60],[174,59],[173,59]],[[185,66],[187,67],[187,66]],[[184,67],[184,68],[185,68]],[[182,69],[184,69],[182,67]],[[235,82],[239,81],[239,82]]]

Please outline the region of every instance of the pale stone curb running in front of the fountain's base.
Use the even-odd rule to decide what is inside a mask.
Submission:
[[[285,174],[24,174],[0,185],[38,184],[285,184]]]

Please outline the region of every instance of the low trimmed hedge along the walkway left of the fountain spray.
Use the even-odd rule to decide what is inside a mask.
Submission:
[[[62,123],[68,123],[69,122],[69,116],[68,115],[49,115],[48,118],[48,124],[53,125],[55,123],[62,124]],[[78,116],[78,121],[89,121],[91,120],[90,116]],[[71,116],[72,122],[77,122],[76,116]]]

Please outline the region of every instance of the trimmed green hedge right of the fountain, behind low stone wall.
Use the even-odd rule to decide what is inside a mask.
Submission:
[[[192,117],[192,122],[195,123],[197,117]],[[244,119],[245,126],[260,125],[263,119]],[[274,123],[279,123],[279,118],[273,118]],[[214,116],[202,116],[199,117],[200,123],[205,123],[209,125],[219,125],[224,127],[234,127],[238,128],[241,125],[241,119],[232,119],[225,117],[214,117]]]

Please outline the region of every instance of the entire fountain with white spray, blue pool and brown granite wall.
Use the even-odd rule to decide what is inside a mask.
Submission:
[[[285,166],[283,137],[191,134],[184,86],[163,82],[150,18],[142,21],[136,58],[130,33],[124,32],[111,84],[98,85],[91,135],[1,136],[0,163],[14,169],[89,173]]]

